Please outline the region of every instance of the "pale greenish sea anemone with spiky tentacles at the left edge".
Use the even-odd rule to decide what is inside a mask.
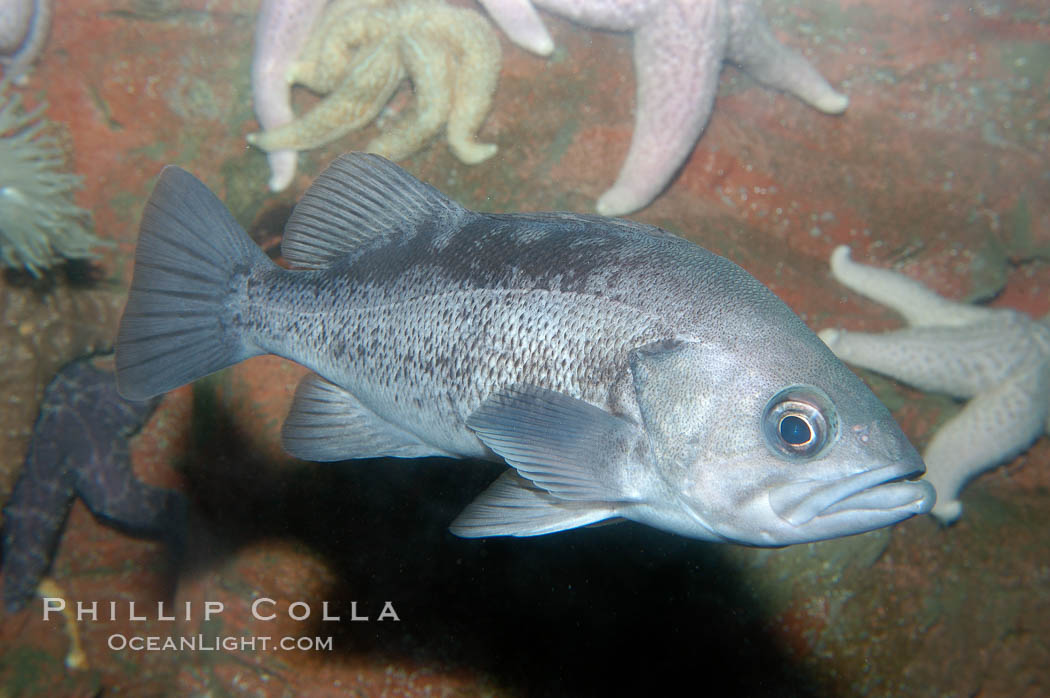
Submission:
[[[40,114],[0,81],[0,266],[34,276],[67,259],[93,256],[103,244],[91,216],[72,202],[81,177],[63,172],[65,153]]]

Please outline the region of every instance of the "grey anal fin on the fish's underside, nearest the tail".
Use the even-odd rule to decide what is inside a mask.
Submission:
[[[285,450],[307,461],[449,456],[383,420],[316,374],[296,388],[280,440]]]

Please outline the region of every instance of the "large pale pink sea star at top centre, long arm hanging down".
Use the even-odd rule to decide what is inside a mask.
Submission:
[[[707,125],[724,60],[826,113],[848,104],[808,61],[774,38],[754,0],[480,2],[511,40],[541,55],[553,42],[533,5],[587,26],[634,33],[634,136],[620,177],[597,202],[605,215],[637,211],[670,183]]]

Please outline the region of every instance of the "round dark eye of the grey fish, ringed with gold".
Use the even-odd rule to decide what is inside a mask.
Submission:
[[[811,459],[833,436],[835,409],[822,392],[802,385],[777,393],[765,404],[762,430],[771,450],[791,459]]]

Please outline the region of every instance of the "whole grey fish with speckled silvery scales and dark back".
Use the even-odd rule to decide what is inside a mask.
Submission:
[[[478,213],[354,153],[303,195],[282,253],[294,271],[166,168],[121,321],[121,393],[292,359],[314,372],[282,428],[296,457],[511,466],[453,523],[463,536],[628,519],[776,546],[933,505],[864,383],[753,276],[658,228]]]

